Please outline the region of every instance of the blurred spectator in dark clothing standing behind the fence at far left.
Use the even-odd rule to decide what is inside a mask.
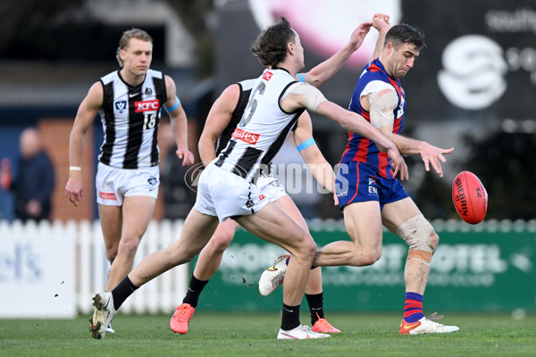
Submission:
[[[13,179],[12,164],[4,158],[0,168],[0,185],[4,190],[13,192],[18,220],[49,220],[54,167],[41,146],[38,129],[22,130],[20,149],[17,177]]]

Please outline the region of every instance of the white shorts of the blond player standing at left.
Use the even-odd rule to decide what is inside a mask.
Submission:
[[[96,168],[96,203],[121,206],[124,197],[147,195],[156,199],[160,185],[158,166],[118,169],[99,162]]]

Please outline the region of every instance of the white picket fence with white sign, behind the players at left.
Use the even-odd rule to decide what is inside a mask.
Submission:
[[[134,264],[172,244],[181,228],[179,220],[151,222]],[[89,314],[91,298],[105,289],[109,268],[98,221],[0,221],[0,317]],[[169,313],[182,301],[188,281],[188,264],[167,271],[139,288],[121,311]]]

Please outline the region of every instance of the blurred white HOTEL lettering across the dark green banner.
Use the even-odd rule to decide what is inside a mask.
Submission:
[[[230,255],[224,255],[222,276],[258,278],[258,274],[272,263],[266,262],[266,256],[278,256],[276,252],[267,254],[266,249],[267,246],[262,244],[233,243],[228,249],[232,252],[230,255],[240,256],[242,261],[238,264],[230,259]],[[407,245],[384,245],[381,259],[372,266],[329,267],[322,270],[322,281],[324,286],[404,286],[406,258]],[[522,255],[516,255],[515,261],[511,261],[510,264],[515,262],[523,271],[532,271],[532,263],[523,263],[530,260],[523,259]],[[507,272],[510,264],[501,257],[498,245],[440,245],[433,257],[428,286],[490,287],[498,276]],[[234,280],[228,282],[239,284]]]

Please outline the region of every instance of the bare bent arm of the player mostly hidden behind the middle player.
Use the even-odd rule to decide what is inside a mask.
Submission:
[[[232,84],[225,88],[216,99],[205,121],[205,128],[199,138],[199,155],[201,162],[208,165],[216,157],[216,141],[229,125],[230,118],[239,103],[240,87]]]

